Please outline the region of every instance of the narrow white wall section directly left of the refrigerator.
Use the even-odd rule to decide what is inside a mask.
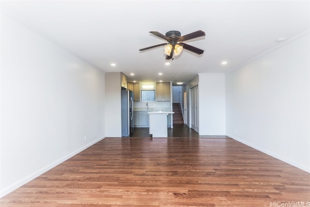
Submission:
[[[106,136],[122,137],[121,73],[106,73]]]

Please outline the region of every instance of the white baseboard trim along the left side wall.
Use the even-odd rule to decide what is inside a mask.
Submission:
[[[3,196],[7,195],[8,193],[16,190],[17,188],[21,187],[22,185],[25,185],[26,183],[28,183],[29,181],[33,180],[34,178],[38,177],[39,175],[42,175],[43,173],[47,172],[48,170],[52,169],[53,167],[56,167],[57,165],[59,165],[60,163],[62,163],[63,161],[72,158],[73,156],[75,156],[76,154],[80,153],[81,151],[87,149],[88,147],[92,146],[93,144],[105,139],[106,137],[101,137],[91,143],[88,143],[84,146],[82,146],[81,148],[77,149],[76,151],[64,156],[61,159],[56,160],[55,162],[47,165],[46,167],[41,168],[40,170],[32,173],[31,175],[28,175],[27,177],[18,180],[16,183],[12,184],[11,186],[5,188],[5,189],[1,189],[0,190],[0,198],[2,198]]]

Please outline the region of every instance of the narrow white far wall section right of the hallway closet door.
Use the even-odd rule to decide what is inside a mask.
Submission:
[[[225,74],[199,74],[199,135],[225,135]]]

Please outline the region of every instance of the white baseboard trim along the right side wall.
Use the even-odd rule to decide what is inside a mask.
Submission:
[[[268,151],[266,149],[263,149],[263,148],[261,148],[259,146],[256,146],[254,144],[248,143],[248,142],[246,142],[246,141],[244,141],[244,140],[242,140],[242,139],[240,139],[238,137],[234,137],[234,136],[231,136],[229,134],[226,135],[226,136],[228,136],[228,137],[230,137],[230,138],[232,138],[232,139],[234,139],[234,140],[236,140],[236,141],[238,141],[240,143],[244,143],[244,144],[246,144],[246,145],[248,145],[248,146],[250,146],[250,147],[252,147],[254,149],[257,149],[258,151],[261,151],[261,152],[263,152],[263,153],[265,153],[265,154],[267,154],[267,155],[269,155],[271,157],[279,159],[279,160],[281,160],[283,162],[286,162],[286,163],[288,163],[290,165],[293,165],[294,167],[297,167],[297,168],[299,168],[299,169],[301,169],[303,171],[306,171],[306,172],[310,173],[310,167],[301,165],[300,163],[297,163],[297,162],[295,162],[295,161],[293,161],[291,159],[284,158],[284,157],[282,157],[282,156],[280,156],[280,155],[278,155],[276,153],[270,152],[270,151]]]

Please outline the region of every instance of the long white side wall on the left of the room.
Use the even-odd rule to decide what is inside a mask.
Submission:
[[[105,84],[103,72],[3,14],[0,74],[1,197],[105,136]]]

